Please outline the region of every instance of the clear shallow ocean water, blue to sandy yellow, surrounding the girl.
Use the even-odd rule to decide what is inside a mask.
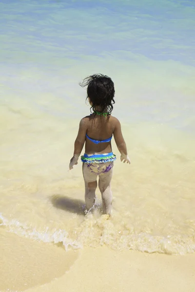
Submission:
[[[148,253],[195,252],[195,3],[0,1],[0,233]],[[81,163],[68,171],[78,86],[111,76],[117,155],[113,217],[84,216]]]

